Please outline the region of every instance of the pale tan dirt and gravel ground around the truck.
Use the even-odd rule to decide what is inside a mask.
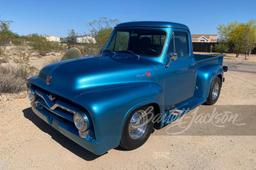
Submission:
[[[31,64],[42,67],[37,57]],[[27,97],[0,101],[0,169],[256,169],[255,103],[256,74],[228,71],[217,103],[197,107],[196,114],[214,108],[237,113],[226,130],[194,122],[184,133],[170,134],[170,128],[179,131],[174,122],[155,129],[137,150],[117,147],[94,155],[36,116]]]

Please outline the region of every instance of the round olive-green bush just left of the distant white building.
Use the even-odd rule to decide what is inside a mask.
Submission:
[[[31,50],[38,54],[38,56],[46,56],[47,53],[52,51],[52,42],[46,40],[42,35],[34,35],[28,41]]]

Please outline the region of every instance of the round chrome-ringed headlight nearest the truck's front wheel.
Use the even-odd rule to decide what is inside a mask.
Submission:
[[[88,118],[82,112],[77,112],[74,115],[74,124],[80,131],[86,131],[88,128]]]

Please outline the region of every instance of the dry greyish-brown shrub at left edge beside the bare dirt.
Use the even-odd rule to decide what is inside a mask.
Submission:
[[[0,93],[15,93],[25,89],[22,68],[15,65],[0,66]]]

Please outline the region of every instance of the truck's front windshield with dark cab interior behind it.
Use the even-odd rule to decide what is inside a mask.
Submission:
[[[162,54],[166,32],[147,29],[117,29],[113,31],[104,51],[134,53],[158,57]]]

